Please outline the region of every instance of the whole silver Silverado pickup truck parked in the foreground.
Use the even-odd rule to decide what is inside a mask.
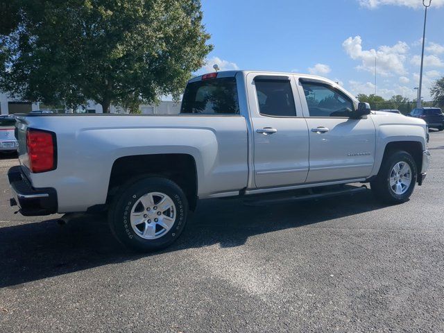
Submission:
[[[300,74],[205,74],[189,81],[180,114],[28,114],[16,132],[12,205],[24,215],[106,211],[136,250],[171,244],[198,199],[318,198],[370,182],[377,198],[402,203],[429,166],[425,121],[371,112]]]

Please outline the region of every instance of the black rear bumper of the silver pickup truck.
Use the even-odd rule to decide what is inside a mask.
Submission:
[[[19,212],[24,216],[49,215],[57,212],[57,192],[51,187],[35,189],[31,186],[21,167],[12,167],[8,171],[8,180]]]

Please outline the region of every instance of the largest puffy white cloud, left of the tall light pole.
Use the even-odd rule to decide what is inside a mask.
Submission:
[[[444,0],[443,0],[444,1]],[[393,46],[379,46],[379,49],[362,49],[361,36],[348,37],[342,44],[345,52],[353,60],[361,60],[358,69],[365,71],[375,71],[375,59],[377,60],[377,74],[389,76],[392,73],[405,75],[404,68],[405,54],[409,51],[409,46],[405,42],[398,42]]]

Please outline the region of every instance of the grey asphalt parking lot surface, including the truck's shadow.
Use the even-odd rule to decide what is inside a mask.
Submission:
[[[368,193],[248,207],[200,202],[151,255],[103,218],[9,207],[0,156],[0,332],[444,331],[444,133],[409,202]]]

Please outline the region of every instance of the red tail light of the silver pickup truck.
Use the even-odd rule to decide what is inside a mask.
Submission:
[[[29,169],[33,173],[56,169],[56,135],[46,130],[28,128],[26,132]]]

